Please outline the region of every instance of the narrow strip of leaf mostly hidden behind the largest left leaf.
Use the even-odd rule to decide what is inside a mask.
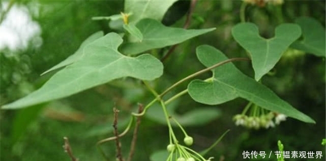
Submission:
[[[46,72],[42,73],[41,75],[44,75],[48,72],[54,71],[56,69],[68,66],[70,64],[72,64],[75,61],[80,60],[83,56],[84,56],[84,47],[90,43],[92,43],[93,41],[95,41],[96,39],[99,39],[101,37],[103,37],[103,31],[98,31],[97,33],[94,33],[93,35],[91,35],[90,37],[88,37],[85,41],[83,41],[79,47],[79,49],[72,55],[70,55],[67,59],[65,59],[64,61],[58,63],[57,65],[55,65],[54,67],[52,67],[51,69],[47,70]]]

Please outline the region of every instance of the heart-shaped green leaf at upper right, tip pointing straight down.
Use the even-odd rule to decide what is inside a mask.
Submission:
[[[255,79],[258,81],[279,61],[283,52],[301,35],[300,26],[284,23],[276,27],[275,37],[264,39],[259,36],[253,23],[240,23],[232,28],[232,36],[251,55]]]

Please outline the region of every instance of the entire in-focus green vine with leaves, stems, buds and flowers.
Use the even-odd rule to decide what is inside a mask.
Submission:
[[[186,76],[174,83],[162,92],[156,88],[157,79],[163,76],[164,59],[160,61],[158,51],[182,43],[188,39],[200,36],[213,31],[209,29],[182,29],[177,27],[164,26],[160,21],[165,12],[176,1],[162,2],[136,2],[126,1],[125,11],[108,17],[94,17],[94,20],[109,20],[115,25],[116,33],[104,35],[99,31],[88,37],[80,48],[66,60],[44,72],[55,73],[40,89],[17,100],[11,104],[2,106],[3,109],[19,109],[49,102],[56,99],[65,98],[77,92],[95,87],[113,80],[124,81],[126,77],[132,77],[133,82],[138,82],[147,89],[154,99],[146,104],[143,110],[134,112],[131,121],[127,126],[127,131],[132,125],[134,117],[139,118],[146,114],[156,103],[162,107],[164,121],[168,125],[169,144],[167,150],[169,155],[167,160],[211,160],[203,157],[187,147],[193,144],[193,138],[188,136],[179,122],[176,115],[166,106],[172,104],[184,94],[189,94],[191,98],[201,104],[218,105],[236,98],[243,98],[249,101],[242,114],[235,115],[235,124],[250,128],[274,127],[285,117],[291,117],[307,123],[315,123],[313,119],[304,113],[293,108],[290,104],[280,99],[271,89],[262,84],[261,78],[270,74],[284,52],[291,52],[290,47],[315,54],[325,56],[325,40],[320,37],[324,35],[321,25],[311,18],[299,18],[297,24],[282,23],[275,29],[275,37],[264,39],[259,36],[258,27],[254,23],[243,22],[232,27],[232,36],[249,54],[254,70],[254,79],[243,74],[231,62],[248,61],[248,58],[227,58],[220,50],[209,46],[201,45],[196,48],[198,60],[206,67],[194,74]],[[195,2],[195,1],[192,1]],[[144,7],[144,4],[147,7]],[[163,4],[163,5],[162,5]],[[244,3],[243,10],[246,8]],[[160,6],[160,7],[158,7]],[[153,10],[156,14],[152,14]],[[245,15],[241,12],[241,17],[245,21]],[[191,11],[189,12],[191,15]],[[191,17],[191,16],[188,16]],[[188,21],[186,22],[186,24]],[[306,25],[311,24],[311,25]],[[312,30],[313,34],[308,32]],[[321,33],[321,34],[320,34]],[[298,40],[300,36],[302,40]],[[318,41],[314,41],[318,40]],[[175,46],[170,47],[165,55],[169,55]],[[149,52],[149,53],[144,53]],[[202,80],[191,80],[203,73],[212,72],[212,76]],[[177,92],[174,95],[167,95],[176,86],[190,81],[187,89]],[[170,96],[166,99],[167,96]],[[170,110],[170,111],[169,111]],[[201,109],[192,116],[201,116],[203,119],[208,113],[210,118],[217,117],[216,112]],[[249,113],[250,116],[247,116]],[[205,118],[209,120],[210,118]],[[275,121],[273,121],[275,118]],[[180,127],[184,134],[183,146],[176,137],[173,130],[173,123]],[[127,132],[126,131],[126,132]],[[123,136],[122,133],[121,135]],[[116,140],[121,136],[115,134],[113,138],[101,141]],[[116,144],[118,147],[118,143]],[[120,154],[121,155],[121,154]],[[122,160],[122,158],[118,158]]]

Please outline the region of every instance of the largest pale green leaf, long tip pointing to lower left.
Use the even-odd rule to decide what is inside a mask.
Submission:
[[[117,78],[153,80],[163,74],[162,63],[150,54],[127,57],[119,53],[117,47],[122,41],[115,33],[95,40],[84,48],[82,59],[54,74],[40,89],[2,108],[16,109],[64,98]]]

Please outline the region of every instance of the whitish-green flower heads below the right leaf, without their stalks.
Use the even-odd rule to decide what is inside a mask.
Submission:
[[[275,118],[274,121],[273,118]],[[275,124],[278,125],[281,121],[286,120],[286,115],[274,112],[270,112],[266,115],[260,116],[247,116],[245,114],[237,114],[233,117],[233,120],[235,121],[235,125],[237,126],[241,125],[248,128],[255,128],[256,130],[258,130],[261,127],[275,127]]]

